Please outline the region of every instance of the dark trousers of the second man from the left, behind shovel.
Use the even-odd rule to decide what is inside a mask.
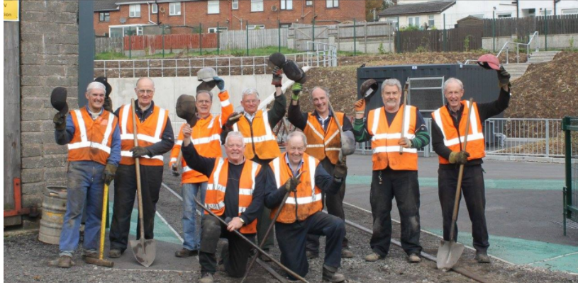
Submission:
[[[162,183],[162,166],[140,166],[140,186],[143,192],[143,221],[145,239],[154,238],[155,212]],[[111,249],[126,250],[130,216],[136,197],[136,171],[134,165],[121,165],[114,178],[114,204],[109,238]],[[138,219],[137,219],[138,220]],[[140,238],[140,221],[137,221],[136,238]]]

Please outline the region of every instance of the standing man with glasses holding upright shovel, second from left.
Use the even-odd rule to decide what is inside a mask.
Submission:
[[[118,166],[114,182],[109,258],[120,258],[128,243],[130,216],[133,213],[136,194],[135,158],[140,159],[144,237],[154,238],[155,212],[164,167],[162,154],[171,150],[174,144],[169,111],[158,107],[152,101],[155,95],[155,83],[149,78],[140,78],[136,83],[135,93],[138,97],[135,101],[136,133],[133,132],[135,105],[128,103],[114,112],[121,128],[121,165]],[[138,146],[135,146],[134,134],[137,134]],[[143,235],[140,235],[140,221],[137,223],[138,239]]]

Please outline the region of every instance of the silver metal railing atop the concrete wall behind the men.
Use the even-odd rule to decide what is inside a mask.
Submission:
[[[300,67],[337,66],[337,47],[322,42],[311,42],[316,51],[285,54]],[[203,57],[185,59],[95,60],[95,76],[138,78],[142,76],[196,76],[204,67],[212,67],[218,75],[267,74],[269,56]]]

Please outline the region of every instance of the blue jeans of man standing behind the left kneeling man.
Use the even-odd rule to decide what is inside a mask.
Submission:
[[[205,204],[205,194],[206,194],[206,182],[203,183],[193,183],[193,184],[183,184],[182,187],[182,197],[183,197],[183,233],[184,233],[184,243],[183,248],[187,250],[199,250],[201,247],[201,227],[199,226],[199,231],[196,231],[196,203],[193,198],[196,197],[196,193],[199,192],[199,201]],[[201,207],[199,207],[201,209]]]

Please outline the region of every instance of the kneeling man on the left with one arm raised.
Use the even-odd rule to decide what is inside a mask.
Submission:
[[[245,142],[239,132],[230,132],[226,138],[227,158],[201,156],[197,151],[199,146],[191,143],[191,127],[185,124],[182,132],[184,160],[192,169],[209,176],[205,206],[223,220],[231,219],[228,226],[224,226],[211,214],[203,215],[199,282],[213,282],[219,238],[228,238],[228,245],[223,247],[221,254],[224,270],[230,277],[243,277],[251,246],[233,230],[239,230],[252,241],[255,239],[257,216],[262,213],[265,187],[267,182],[272,182],[267,176],[269,171],[262,170],[259,163],[245,158]]]

